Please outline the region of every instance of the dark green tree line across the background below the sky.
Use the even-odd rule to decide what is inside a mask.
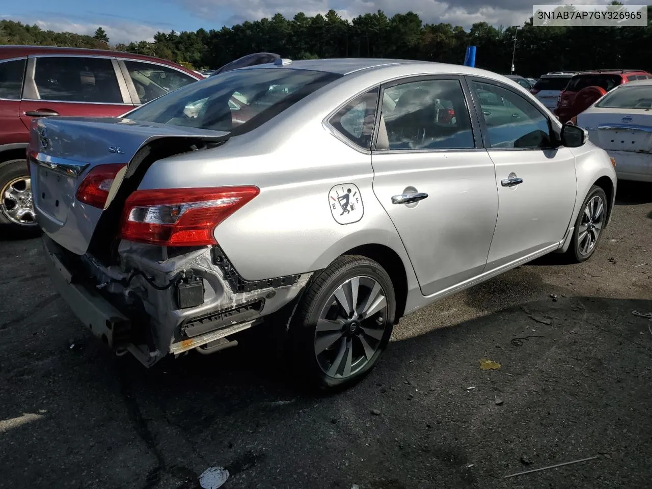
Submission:
[[[652,7],[647,7],[652,20]],[[514,43],[516,49],[514,50]],[[462,64],[467,46],[477,46],[476,66],[537,78],[558,70],[631,68],[652,70],[652,23],[647,27],[522,26],[424,23],[414,12],[387,16],[381,10],[353,20],[329,10],[314,17],[281,14],[221,29],[158,32],[153,42],[110,44],[100,27],[94,36],[44,31],[38,25],[0,21],[0,44],[113,49],[169,59],[195,69],[218,68],[252,52],[290,59],[385,57]]]

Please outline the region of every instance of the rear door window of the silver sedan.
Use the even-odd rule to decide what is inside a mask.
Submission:
[[[383,93],[381,115],[384,127],[380,128],[377,149],[475,147],[458,80],[424,80],[388,88]],[[381,135],[387,141],[381,141]]]

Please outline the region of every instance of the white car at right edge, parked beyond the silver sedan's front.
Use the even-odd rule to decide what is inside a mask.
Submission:
[[[619,179],[652,183],[652,80],[615,87],[571,124],[615,159]]]

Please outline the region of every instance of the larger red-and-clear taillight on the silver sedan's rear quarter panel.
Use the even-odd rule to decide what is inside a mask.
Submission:
[[[259,192],[256,186],[136,190],[126,200],[120,237],[161,246],[217,244],[216,226]]]

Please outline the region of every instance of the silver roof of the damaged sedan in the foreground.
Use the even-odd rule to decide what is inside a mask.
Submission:
[[[280,64],[286,61],[286,64]],[[349,75],[362,71],[381,70],[402,66],[406,72],[420,72],[422,74],[456,73],[462,75],[484,76],[499,80],[502,75],[482,70],[481,68],[466,67],[464,65],[452,65],[449,63],[435,63],[434,61],[414,61],[411,59],[374,59],[374,58],[328,58],[328,59],[301,59],[297,61],[279,59],[276,63],[265,63],[250,67],[238,68],[239,70],[267,70],[267,69],[295,69],[313,70],[341,75]],[[517,77],[521,78],[521,77]]]

